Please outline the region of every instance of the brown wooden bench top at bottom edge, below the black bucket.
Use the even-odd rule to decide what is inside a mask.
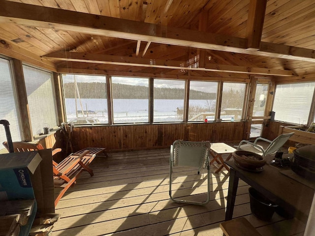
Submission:
[[[244,217],[220,223],[225,236],[261,236],[251,223]]]

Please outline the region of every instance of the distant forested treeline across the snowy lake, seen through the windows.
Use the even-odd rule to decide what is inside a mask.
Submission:
[[[107,98],[106,84],[93,83],[77,83],[81,98]],[[64,97],[75,98],[76,87],[74,83],[63,84]],[[125,84],[113,84],[114,99],[148,99],[148,87],[134,86]],[[78,95],[77,95],[78,97]],[[201,92],[190,90],[189,98],[196,100],[215,100],[217,93]],[[155,99],[184,99],[184,89],[155,88]]]

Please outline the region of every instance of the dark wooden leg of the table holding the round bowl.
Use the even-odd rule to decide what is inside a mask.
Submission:
[[[235,204],[237,186],[238,186],[238,177],[234,169],[230,171],[230,179],[228,182],[228,192],[227,192],[227,203],[225,211],[225,221],[231,220],[233,217],[233,209]]]

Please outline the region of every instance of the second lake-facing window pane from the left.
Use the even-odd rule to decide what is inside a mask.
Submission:
[[[149,79],[112,77],[113,122],[149,122]]]

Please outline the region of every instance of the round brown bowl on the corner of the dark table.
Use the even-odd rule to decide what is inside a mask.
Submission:
[[[236,150],[232,155],[236,164],[246,169],[256,170],[266,164],[262,156],[251,151]]]

